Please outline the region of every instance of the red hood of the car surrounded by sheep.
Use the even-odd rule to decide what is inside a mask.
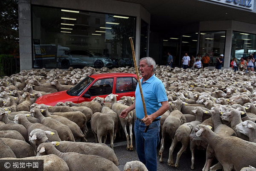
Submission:
[[[70,96],[67,94],[67,90],[65,90],[41,96],[35,101],[35,103],[55,106],[55,104],[60,101],[72,101],[73,103],[77,103],[78,99],[79,96]]]

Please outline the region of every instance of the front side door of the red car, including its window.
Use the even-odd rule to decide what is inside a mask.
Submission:
[[[78,103],[83,101],[92,101],[95,97],[99,96],[105,98],[113,93],[114,78],[99,79],[79,98]]]

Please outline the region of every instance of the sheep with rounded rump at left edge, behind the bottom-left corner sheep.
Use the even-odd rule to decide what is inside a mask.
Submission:
[[[23,140],[11,138],[1,139],[12,149],[17,158],[32,157],[36,155],[32,146]]]

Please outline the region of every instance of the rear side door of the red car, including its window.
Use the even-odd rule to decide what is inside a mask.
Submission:
[[[115,94],[118,95],[117,100],[122,96],[135,96],[137,82],[135,77],[117,77],[115,87]]]

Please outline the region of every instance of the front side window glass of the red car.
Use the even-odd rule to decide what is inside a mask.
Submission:
[[[100,79],[96,81],[87,91],[90,96],[101,96],[111,94],[113,91],[113,78]]]

